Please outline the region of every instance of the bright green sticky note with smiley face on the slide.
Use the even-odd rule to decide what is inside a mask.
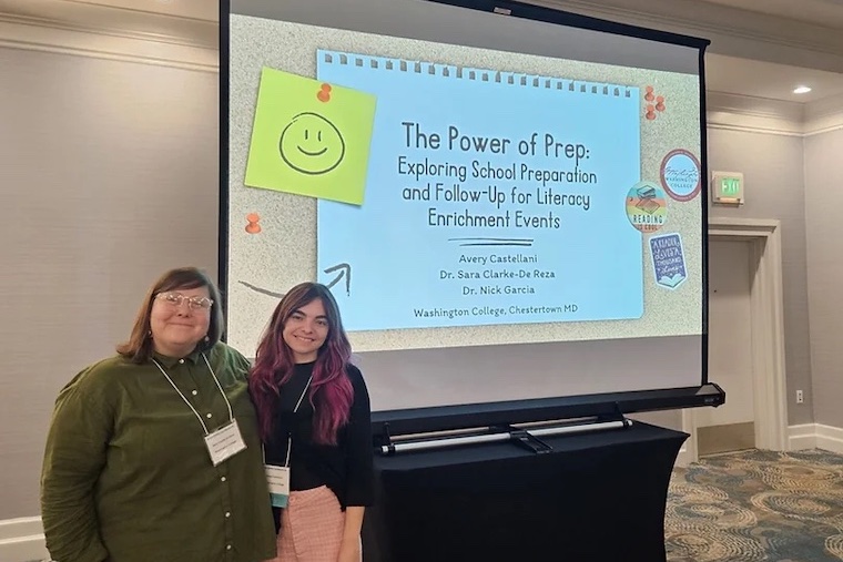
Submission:
[[[375,95],[264,68],[245,184],[363,204]]]

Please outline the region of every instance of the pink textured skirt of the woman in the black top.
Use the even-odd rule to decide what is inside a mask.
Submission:
[[[291,492],[272,562],[336,562],[344,528],[345,512],[329,488]]]

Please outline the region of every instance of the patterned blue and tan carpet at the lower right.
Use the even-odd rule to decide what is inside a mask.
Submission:
[[[843,457],[741,451],[676,469],[664,521],[671,562],[843,560]]]

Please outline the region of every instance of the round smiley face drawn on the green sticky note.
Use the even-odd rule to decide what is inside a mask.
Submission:
[[[295,115],[278,141],[281,157],[293,170],[307,175],[326,174],[343,162],[345,140],[339,130],[318,113]]]

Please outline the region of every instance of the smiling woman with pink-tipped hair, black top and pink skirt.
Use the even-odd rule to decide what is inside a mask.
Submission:
[[[331,290],[296,285],[275,308],[250,391],[278,529],[275,562],[359,562],[373,503],[370,408]]]

